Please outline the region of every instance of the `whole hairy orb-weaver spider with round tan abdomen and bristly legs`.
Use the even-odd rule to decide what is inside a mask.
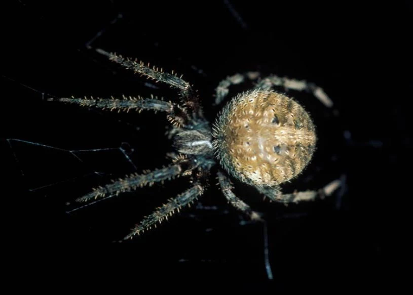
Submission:
[[[323,198],[340,186],[340,181],[334,180],[318,191],[283,194],[280,189],[281,184],[297,177],[310,162],[317,138],[314,123],[305,109],[292,98],[274,91],[273,87],[308,91],[325,106],[331,107],[332,101],[313,83],[276,75],[260,78],[258,72],[228,76],[219,82],[215,90],[215,105],[223,102],[232,85],[253,81],[256,82],[255,87],[232,98],[211,128],[203,115],[196,91],[182,76],[173,71],[168,73],[162,68],[150,67],[149,63],[145,65],[136,59],[96,50],[135,73],[169,84],[178,90],[181,99],[180,103],[140,96],[48,99],[102,110],[154,110],[167,114],[171,122],[167,135],[173,140],[173,147],[177,151],[169,166],[112,180],[76,199],[77,202],[88,202],[179,176],[191,176],[189,189],[157,207],[155,212],[145,217],[124,237],[125,240],[156,227],[175,211],[179,212],[181,207],[197,200],[208,185],[209,171],[214,165],[220,165],[217,179],[223,195],[251,220],[259,221],[261,215],[233,193],[230,176],[254,186],[271,201],[284,204]]]

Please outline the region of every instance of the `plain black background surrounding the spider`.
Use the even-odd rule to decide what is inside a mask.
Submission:
[[[341,287],[367,274],[381,284],[388,243],[398,240],[389,216],[394,200],[405,194],[395,184],[407,176],[402,156],[411,148],[410,4],[15,1],[2,14],[1,168],[11,178],[2,184],[3,237],[14,249],[12,274],[43,265],[62,278],[267,279],[262,224],[240,225],[243,217],[215,186],[216,170],[201,199],[207,207],[185,209],[130,242],[112,243],[187,188],[187,180],[65,213],[74,208],[66,202],[135,170],[119,150],[78,153],[84,162],[64,150],[122,146],[138,171],[167,164],[164,155],[171,151],[163,114],[96,112],[44,100],[151,93],[174,99],[168,87],[150,89],[144,78],[87,49],[101,31],[92,47],[183,74],[199,90],[211,121],[219,111],[211,106],[214,88],[236,72],[259,70],[323,87],[339,115],[310,95],[293,94],[314,117],[319,147],[303,176],[285,190],[317,189],[345,175],[340,206],[334,196],[285,208],[262,202],[238,183],[237,194],[265,214],[280,288],[308,278],[317,285],[321,277]],[[48,184],[55,185],[31,191]]]

